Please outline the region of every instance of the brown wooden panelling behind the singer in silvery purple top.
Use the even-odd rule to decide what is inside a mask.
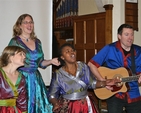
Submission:
[[[105,13],[79,16],[73,20],[77,60],[87,63],[105,45]]]

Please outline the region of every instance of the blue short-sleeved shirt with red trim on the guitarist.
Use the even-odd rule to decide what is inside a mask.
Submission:
[[[134,45],[135,50],[135,64],[136,64],[136,73],[141,73],[141,47]],[[91,63],[97,67],[106,64],[106,67],[111,69],[116,69],[119,67],[127,67],[131,69],[131,53],[127,56],[124,55],[120,42],[114,42],[105,46],[99,51],[91,60]],[[138,81],[128,83],[130,90],[126,93],[118,93],[116,97],[120,99],[127,98],[128,103],[136,102],[141,100],[141,94],[138,87]]]

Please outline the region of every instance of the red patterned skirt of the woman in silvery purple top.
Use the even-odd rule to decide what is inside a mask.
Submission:
[[[89,110],[86,99],[74,101],[60,97],[58,101],[60,106],[57,110],[54,111],[54,113],[99,113],[92,99],[90,99],[92,109],[91,111]]]

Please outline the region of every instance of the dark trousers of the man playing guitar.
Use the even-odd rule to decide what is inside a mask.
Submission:
[[[123,108],[125,108],[126,113],[141,113],[141,101],[127,103],[126,99],[119,99],[115,96],[106,101],[108,113],[123,113]]]

